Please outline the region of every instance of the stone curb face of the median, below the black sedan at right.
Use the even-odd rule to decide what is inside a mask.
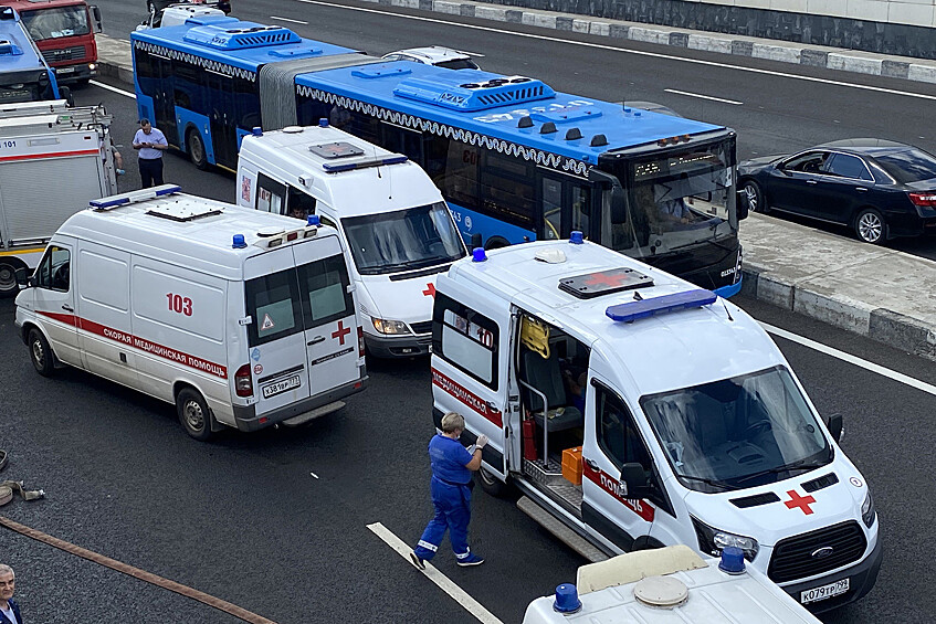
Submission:
[[[769,268],[748,264],[742,295],[865,336],[901,351],[936,360],[936,327],[839,294],[797,286]]]

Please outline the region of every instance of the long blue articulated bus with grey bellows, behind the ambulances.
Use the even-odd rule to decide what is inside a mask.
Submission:
[[[251,32],[263,41],[235,44]],[[161,98],[180,149],[198,135],[228,158],[214,161],[233,168],[239,137],[252,126],[325,118],[419,162],[470,244],[579,230],[723,296],[740,289],[745,213],[730,128],[559,93],[526,76],[383,61],[232,18],[132,39],[140,115],[159,121]],[[290,46],[294,60],[280,60]],[[186,71],[209,84],[196,94],[182,78],[180,89]],[[235,97],[212,86],[229,73],[239,78],[228,87]],[[235,120],[227,136],[215,136],[224,126],[215,118]]]

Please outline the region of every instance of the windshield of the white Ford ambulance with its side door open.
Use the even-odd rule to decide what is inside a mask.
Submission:
[[[775,483],[832,461],[832,448],[783,367],[641,399],[673,470],[721,491]]]

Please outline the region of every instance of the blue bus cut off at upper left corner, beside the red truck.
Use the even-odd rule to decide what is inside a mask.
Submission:
[[[55,72],[49,67],[19,14],[0,7],[0,104],[59,99]]]

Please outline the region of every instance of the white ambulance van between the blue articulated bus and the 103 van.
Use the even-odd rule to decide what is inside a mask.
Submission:
[[[323,119],[244,137],[238,180],[240,205],[338,230],[371,355],[429,352],[435,276],[467,252],[419,165]]]

